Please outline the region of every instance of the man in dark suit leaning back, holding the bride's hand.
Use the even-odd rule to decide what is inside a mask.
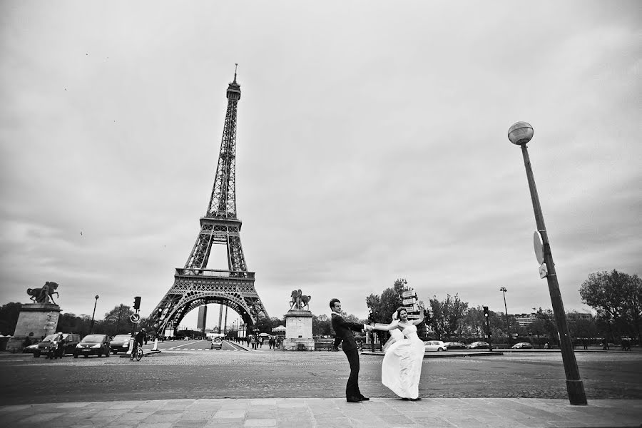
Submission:
[[[360,332],[361,330],[372,330],[372,327],[344,320],[341,316],[339,299],[330,300],[330,310],[332,310],[332,329],[335,330],[337,338],[343,340],[343,352],[350,363],[350,377],[348,377],[345,386],[345,399],[349,403],[367,401],[370,398],[364,397],[359,390],[359,351],[351,330]]]

